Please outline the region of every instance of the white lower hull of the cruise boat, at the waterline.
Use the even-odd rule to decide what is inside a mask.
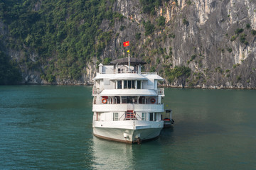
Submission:
[[[102,125],[102,122],[95,122],[93,134],[106,140],[132,143],[137,142],[138,137],[140,140],[151,140],[159,137],[164,127],[163,121],[146,122],[127,120],[122,121],[122,123],[124,123],[124,125],[112,122],[111,125],[108,126],[106,123]]]

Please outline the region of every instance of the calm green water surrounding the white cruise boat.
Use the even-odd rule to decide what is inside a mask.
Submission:
[[[0,86],[0,169],[255,169],[255,90],[165,89],[174,128],[92,135],[92,87]]]

